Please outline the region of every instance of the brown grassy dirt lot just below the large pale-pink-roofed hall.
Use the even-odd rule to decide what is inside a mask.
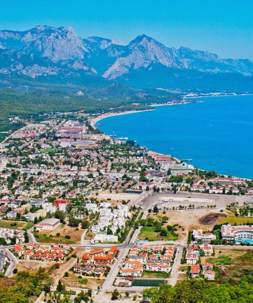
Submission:
[[[75,227],[70,227],[67,224],[61,224],[55,230],[42,230],[40,232],[34,233],[39,236],[39,242],[44,243],[67,243],[67,244],[80,244],[81,235],[85,230],[81,229],[79,226],[79,230],[75,230]],[[56,234],[59,233],[60,236]],[[50,236],[52,235],[52,236]],[[65,236],[69,235],[70,239],[66,239]]]

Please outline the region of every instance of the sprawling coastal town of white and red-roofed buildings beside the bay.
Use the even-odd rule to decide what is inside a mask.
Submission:
[[[37,303],[51,287],[72,301],[141,302],[149,287],[243,275],[252,180],[105,135],[94,119],[58,113],[1,143],[0,272],[45,268],[54,281]]]

